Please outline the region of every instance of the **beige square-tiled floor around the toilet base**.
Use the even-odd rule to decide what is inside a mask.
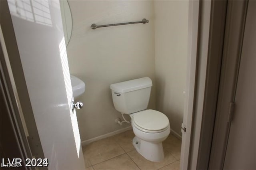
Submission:
[[[170,134],[163,142],[164,160],[151,162],[132,145],[132,130],[84,146],[86,170],[179,170],[181,141]]]

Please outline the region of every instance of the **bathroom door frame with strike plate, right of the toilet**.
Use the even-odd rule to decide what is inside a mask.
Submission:
[[[190,62],[187,66],[188,86],[184,106],[186,132],[182,133],[181,170],[208,169],[222,63],[226,6],[226,0],[189,2]]]

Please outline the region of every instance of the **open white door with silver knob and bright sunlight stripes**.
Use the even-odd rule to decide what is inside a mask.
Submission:
[[[8,6],[48,169],[84,170],[59,1],[8,0]]]

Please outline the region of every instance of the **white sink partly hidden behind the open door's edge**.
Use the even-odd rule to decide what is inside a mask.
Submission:
[[[82,95],[85,91],[84,81],[78,79],[74,75],[70,75],[70,79],[71,79],[71,85],[72,85],[72,91],[73,91],[74,98]]]

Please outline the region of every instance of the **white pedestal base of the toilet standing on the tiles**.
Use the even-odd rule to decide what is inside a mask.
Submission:
[[[132,144],[137,152],[139,152],[147,160],[159,162],[164,159],[162,142],[147,142],[135,136],[132,140]]]

